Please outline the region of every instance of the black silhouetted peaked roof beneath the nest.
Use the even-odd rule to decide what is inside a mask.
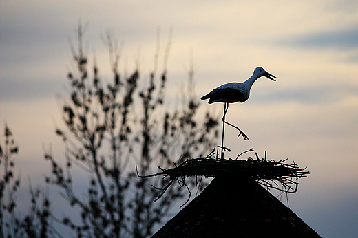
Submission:
[[[320,237],[253,177],[217,175],[153,238]]]

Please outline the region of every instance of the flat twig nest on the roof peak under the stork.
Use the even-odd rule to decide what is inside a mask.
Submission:
[[[249,149],[249,151],[253,150]],[[247,160],[238,160],[237,157],[236,160],[232,160],[220,159],[211,153],[204,158],[186,160],[178,166],[174,163],[175,167],[171,169],[163,169],[158,166],[161,172],[138,176],[142,178],[159,175],[163,175],[163,178],[169,177],[169,183],[164,188],[156,188],[153,186],[160,191],[160,194],[156,195],[157,198],[154,200],[155,202],[164,195],[167,188],[169,188],[174,181],[177,181],[180,186],[187,187],[189,191],[187,201],[189,201],[191,192],[187,184],[185,184],[185,178],[192,176],[218,177],[221,175],[240,175],[242,177],[252,177],[259,184],[266,186],[268,189],[274,188],[284,193],[296,193],[298,179],[307,177],[307,175],[310,174],[309,171],[305,171],[306,168],[300,169],[295,162],[293,162],[293,164],[286,164],[285,162],[288,159],[279,161],[266,160],[266,155],[264,159],[260,159],[257,153],[255,153],[255,155],[255,159],[249,157]]]

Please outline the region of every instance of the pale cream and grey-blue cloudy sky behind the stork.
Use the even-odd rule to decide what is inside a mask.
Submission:
[[[43,181],[43,147],[63,155],[56,95],[72,67],[69,37],[88,22],[89,58],[109,78],[101,34],[123,42],[120,68],[153,68],[156,32],[173,28],[167,94],[185,83],[191,52],[198,98],[224,83],[242,82],[262,66],[248,101],[230,106],[229,157],[253,148],[263,157],[295,161],[311,172],[289,204],[322,237],[358,233],[358,1],[1,1],[0,120],[19,144],[23,180]],[[138,50],[140,49],[140,50]],[[207,105],[220,116],[223,105]],[[3,136],[3,135],[1,135]],[[235,138],[232,140],[231,138]],[[1,137],[3,142],[3,137]],[[23,182],[26,186],[26,182]]]

